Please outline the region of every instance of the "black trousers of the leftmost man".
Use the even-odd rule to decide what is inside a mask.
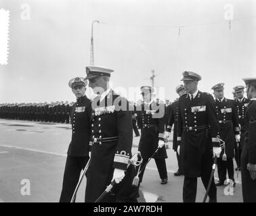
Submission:
[[[66,158],[66,167],[62,184],[62,193],[60,202],[70,202],[74,189],[79,182],[81,170],[85,168],[89,157],[72,157]]]

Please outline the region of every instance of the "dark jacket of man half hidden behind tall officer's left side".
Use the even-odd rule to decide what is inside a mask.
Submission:
[[[174,101],[171,104],[171,110],[169,111],[169,121],[167,124],[167,132],[171,132],[173,127],[173,150],[177,151],[177,114],[179,111],[179,100]]]

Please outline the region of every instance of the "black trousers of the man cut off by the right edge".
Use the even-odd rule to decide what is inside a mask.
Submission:
[[[256,202],[256,180],[252,180],[247,169],[248,150],[242,149],[241,174],[242,174],[242,198],[244,202]]]

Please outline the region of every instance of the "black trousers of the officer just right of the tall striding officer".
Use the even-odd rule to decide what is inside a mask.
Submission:
[[[232,158],[227,158],[227,161],[222,161],[221,158],[217,159],[219,181],[224,182],[226,180],[227,170],[228,178],[234,180],[234,163]]]

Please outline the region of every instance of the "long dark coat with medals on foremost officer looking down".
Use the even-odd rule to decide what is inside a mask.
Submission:
[[[104,192],[115,168],[126,170],[125,178],[112,188],[114,195],[106,196],[102,202],[115,202],[114,197],[129,199],[133,196],[131,183],[135,176],[133,166],[127,169],[133,141],[129,103],[110,90],[102,102],[100,97],[93,99],[92,107],[91,163],[87,171],[85,202],[94,202]],[[137,194],[135,196],[137,198]]]

